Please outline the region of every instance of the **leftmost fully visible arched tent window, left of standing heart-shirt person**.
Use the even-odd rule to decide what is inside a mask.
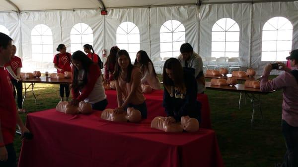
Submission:
[[[32,61],[53,61],[53,35],[51,29],[38,24],[31,31]]]

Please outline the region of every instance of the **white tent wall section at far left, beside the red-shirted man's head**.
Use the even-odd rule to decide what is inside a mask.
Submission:
[[[22,58],[21,54],[21,33],[19,25],[19,16],[15,12],[0,13],[0,25],[9,31],[10,38],[13,39],[13,45],[16,46],[16,55]]]

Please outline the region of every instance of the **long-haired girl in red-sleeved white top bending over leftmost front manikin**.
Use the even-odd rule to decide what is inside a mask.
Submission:
[[[74,64],[73,100],[70,103],[78,106],[80,101],[85,101],[92,105],[93,110],[103,111],[108,101],[99,66],[81,51],[74,52],[72,63]]]

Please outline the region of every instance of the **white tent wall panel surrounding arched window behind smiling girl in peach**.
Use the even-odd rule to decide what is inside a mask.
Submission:
[[[123,22],[134,23],[140,31],[140,49],[150,54],[149,8],[129,8],[108,10],[105,17],[105,44],[107,55],[110,48],[116,45],[116,31]],[[122,48],[120,48],[122,49]],[[131,61],[135,61],[132,59]]]

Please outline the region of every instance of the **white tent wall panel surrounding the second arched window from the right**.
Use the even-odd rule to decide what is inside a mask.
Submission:
[[[211,57],[212,27],[221,18],[231,18],[239,25],[239,57],[247,67],[250,38],[249,3],[206,4],[200,8],[200,56]]]

